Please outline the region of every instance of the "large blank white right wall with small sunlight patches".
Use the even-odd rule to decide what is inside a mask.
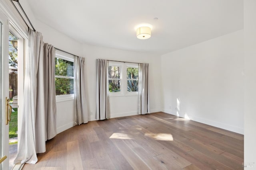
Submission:
[[[163,55],[163,111],[243,134],[243,50],[240,30]]]

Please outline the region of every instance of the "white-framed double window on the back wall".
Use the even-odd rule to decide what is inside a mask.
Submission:
[[[138,64],[109,62],[108,92],[110,96],[138,94]]]

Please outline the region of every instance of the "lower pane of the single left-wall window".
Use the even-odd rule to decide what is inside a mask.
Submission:
[[[64,94],[74,94],[74,79],[55,78],[56,96]]]

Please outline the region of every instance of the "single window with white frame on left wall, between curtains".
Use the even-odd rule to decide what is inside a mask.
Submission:
[[[55,51],[56,99],[74,97],[74,56]]]

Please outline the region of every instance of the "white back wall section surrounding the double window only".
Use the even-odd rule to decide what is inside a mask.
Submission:
[[[83,46],[84,56],[86,57],[86,68],[88,70],[88,96],[90,102],[90,120],[95,120],[96,113],[96,78],[97,78],[97,61],[96,59],[108,59],[115,61],[149,63],[150,74],[150,109],[151,113],[161,111],[161,61],[160,56],[112,49],[106,47],[97,47],[92,45]],[[126,115],[136,115],[138,113],[138,97],[123,96],[110,97],[110,116],[120,117]]]

